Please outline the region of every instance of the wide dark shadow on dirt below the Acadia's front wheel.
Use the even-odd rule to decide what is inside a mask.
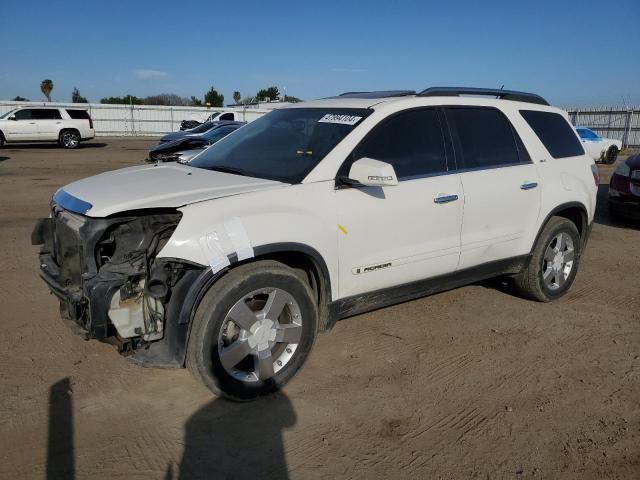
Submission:
[[[182,461],[165,479],[287,479],[283,431],[295,423],[282,392],[252,403],[216,398],[187,421]]]

